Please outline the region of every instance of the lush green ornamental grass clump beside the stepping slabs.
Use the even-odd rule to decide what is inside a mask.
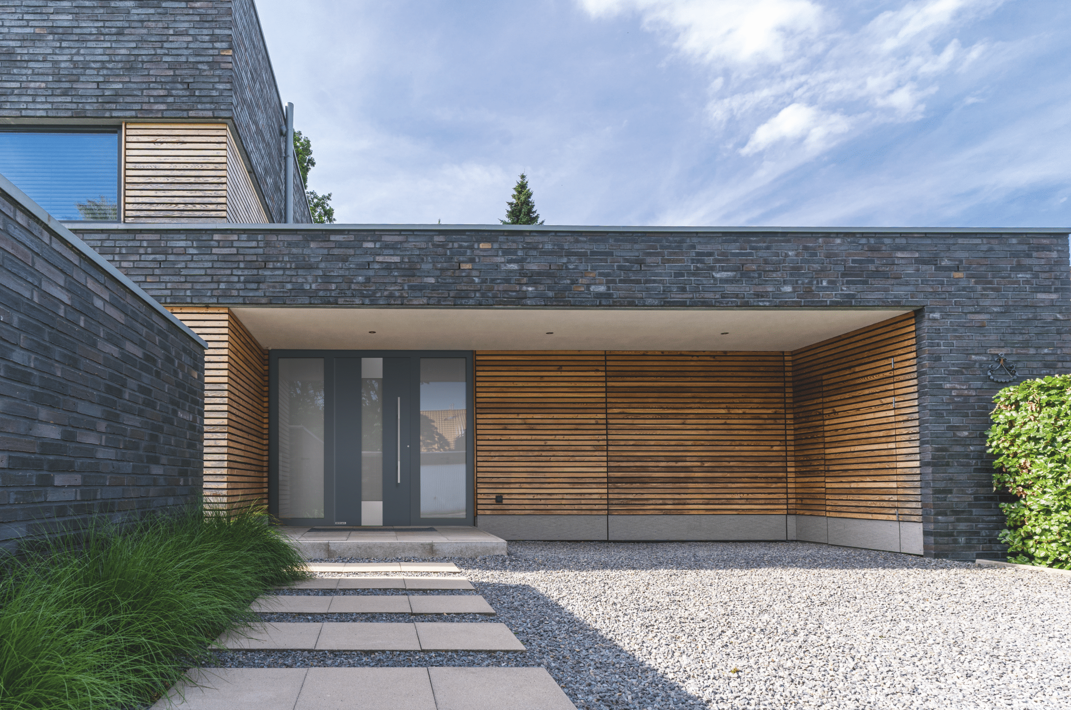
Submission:
[[[305,575],[256,507],[97,521],[28,550],[0,581],[0,709],[144,707],[256,620],[253,599]]]

